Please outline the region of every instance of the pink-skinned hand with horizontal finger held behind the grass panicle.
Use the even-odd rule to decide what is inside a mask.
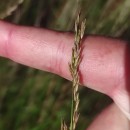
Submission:
[[[68,63],[71,60],[73,40],[74,36],[70,33],[20,27],[0,21],[0,56],[69,80],[71,76]],[[79,70],[81,84],[110,96],[130,118],[130,92],[125,72],[126,48],[127,43],[121,40],[86,36]],[[129,130],[126,116],[115,104],[112,106],[102,112],[88,130],[107,130],[110,119],[115,122],[111,125],[111,130],[116,130],[119,126]],[[97,128],[102,119],[107,117],[110,119],[104,120],[104,125]]]

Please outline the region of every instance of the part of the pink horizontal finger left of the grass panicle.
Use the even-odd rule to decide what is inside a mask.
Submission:
[[[0,56],[70,78],[72,36],[47,29],[0,21]]]

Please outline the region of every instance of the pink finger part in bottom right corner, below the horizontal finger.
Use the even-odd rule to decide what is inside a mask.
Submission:
[[[112,104],[103,110],[87,130],[129,130],[130,122],[122,111]]]

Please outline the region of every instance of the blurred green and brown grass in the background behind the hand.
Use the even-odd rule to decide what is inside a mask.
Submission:
[[[80,0],[86,33],[129,39],[129,0]],[[75,0],[24,0],[6,21],[60,31],[73,31]],[[71,82],[0,58],[0,130],[60,129],[69,122]],[[88,127],[111,99],[80,88],[79,129]]]

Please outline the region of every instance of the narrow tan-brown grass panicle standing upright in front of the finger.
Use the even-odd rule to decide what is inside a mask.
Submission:
[[[72,76],[72,106],[71,106],[71,123],[69,130],[75,130],[79,119],[79,65],[81,62],[81,43],[85,32],[86,20],[80,22],[80,13],[75,21],[75,39],[72,48],[71,63],[69,64]],[[61,130],[67,130],[65,122],[62,122]]]

